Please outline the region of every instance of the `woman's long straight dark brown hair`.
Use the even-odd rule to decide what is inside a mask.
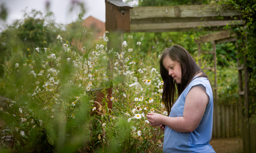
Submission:
[[[178,61],[181,67],[181,84],[177,84],[172,76],[169,76],[168,71],[163,65],[163,59],[169,56],[173,61]],[[178,96],[185,90],[185,88],[192,81],[193,77],[198,73],[203,73],[198,77],[207,77],[204,71],[197,65],[196,61],[191,57],[189,52],[180,45],[173,45],[169,49],[165,49],[162,53],[162,57],[159,60],[160,74],[164,81],[162,100],[165,104],[165,108],[170,115],[171,108],[174,104],[174,96],[176,88],[178,90]]]

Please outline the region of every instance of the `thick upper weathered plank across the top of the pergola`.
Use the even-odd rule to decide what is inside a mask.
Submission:
[[[130,19],[230,17],[240,14],[237,10],[231,10],[231,7],[231,5],[175,5],[133,7],[133,9],[130,10]]]

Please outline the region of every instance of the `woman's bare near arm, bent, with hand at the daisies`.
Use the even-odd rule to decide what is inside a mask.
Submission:
[[[148,113],[146,116],[152,126],[164,124],[177,132],[192,132],[199,125],[208,102],[205,87],[196,85],[186,96],[183,116],[169,117],[156,113]]]

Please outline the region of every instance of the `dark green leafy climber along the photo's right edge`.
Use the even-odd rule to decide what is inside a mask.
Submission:
[[[238,35],[237,46],[239,53],[237,58],[241,64],[245,64],[249,71],[249,96],[250,96],[250,110],[252,114],[256,112],[256,1],[250,0],[228,0],[221,1],[220,4],[232,4],[233,9],[240,10],[239,17],[233,17],[237,20],[243,20],[243,25],[235,26],[232,32]],[[246,58],[246,62],[244,62]]]

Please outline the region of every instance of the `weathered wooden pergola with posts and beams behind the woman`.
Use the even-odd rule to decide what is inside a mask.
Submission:
[[[190,31],[212,30],[221,31],[209,36],[202,36],[195,40],[200,52],[200,43],[213,41],[214,54],[214,91],[217,99],[217,63],[215,44],[235,41],[234,36],[229,37],[223,27],[227,25],[242,25],[238,17],[240,12],[232,10],[231,5],[177,5],[177,6],[145,6],[133,7],[122,0],[105,0],[106,4],[106,30],[108,34],[108,50],[122,50],[123,33],[138,32],[164,32],[164,31]],[[114,41],[113,41],[114,40]],[[110,57],[110,59],[113,57]],[[199,66],[201,62],[199,61]],[[108,66],[108,76],[112,77],[111,65]],[[110,87],[111,88],[111,87]],[[112,94],[109,94],[112,96]],[[110,98],[110,97],[109,97]],[[110,101],[111,102],[111,101]],[[112,109],[112,104],[108,104]]]

